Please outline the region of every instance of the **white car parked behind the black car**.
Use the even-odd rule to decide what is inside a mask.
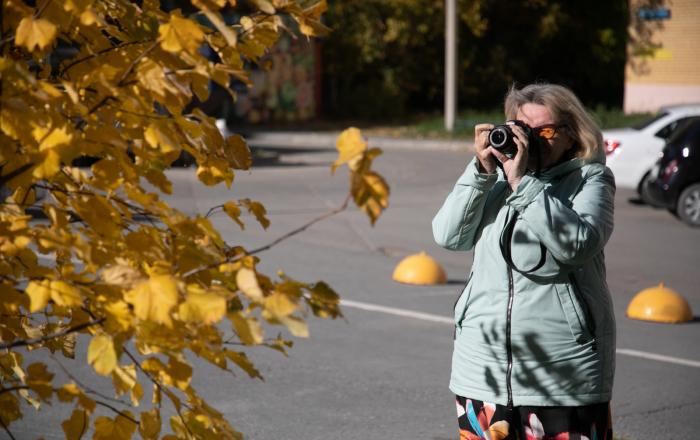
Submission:
[[[700,117],[700,104],[662,107],[652,119],[635,127],[604,130],[607,165],[617,186],[635,188],[644,199],[642,183],[666,140],[680,122],[693,117]]]

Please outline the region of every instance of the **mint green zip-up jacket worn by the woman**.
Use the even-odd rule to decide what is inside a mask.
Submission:
[[[501,171],[469,163],[433,219],[440,246],[474,249],[454,310],[455,394],[513,406],[611,399],[615,318],[603,247],[614,194],[602,163],[571,159],[524,176],[515,192]]]

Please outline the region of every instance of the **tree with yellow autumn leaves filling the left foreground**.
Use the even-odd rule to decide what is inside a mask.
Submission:
[[[368,149],[357,129],[340,136],[333,165],[349,169],[345,203],[268,246],[229,243],[209,219],[223,210],[243,229],[247,211],[266,228],[255,200],[190,216],[161,198],[172,190],[165,171],[182,152],[195,158],[193,173],[207,186],[231,187],[235,170],[251,166],[243,137],[224,139],[212,118],[188,104],[206,100],[210,81],[249,83],[248,66],[291,32],[288,17],[305,36],[326,33],[325,7],[193,0],[183,13],[157,0],[2,2],[0,187],[9,195],[0,204],[0,422],[10,437],[12,422],[25,415],[21,402],[60,401],[74,407],[62,423],[69,439],[90,423],[95,438],[137,431],[158,438],[163,402],[175,412],[174,436],[164,438],[239,438],[192,386],[188,359],[260,378],[244,346],[284,352],[291,345],[267,336],[269,325],[306,337],[310,314],[340,316],[326,283],[256,268],[262,251],[350,200],[372,223],[386,208],[389,189],[371,169],[381,152]],[[216,61],[202,55],[205,46]],[[72,166],[81,156],[97,162]],[[37,190],[48,194],[40,205],[45,222],[29,215]],[[111,380],[116,401],[67,370],[67,383],[54,380],[60,356],[74,357],[86,339],[85,361]],[[50,351],[45,358],[54,363],[29,363],[26,349]],[[143,383],[152,387],[150,400]]]

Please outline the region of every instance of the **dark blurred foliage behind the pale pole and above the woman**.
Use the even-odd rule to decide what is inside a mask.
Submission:
[[[443,106],[444,2],[331,0],[323,114],[391,120]],[[493,110],[513,84],[571,87],[592,108],[622,104],[626,0],[458,0],[458,103]],[[342,32],[337,30],[342,29]]]

